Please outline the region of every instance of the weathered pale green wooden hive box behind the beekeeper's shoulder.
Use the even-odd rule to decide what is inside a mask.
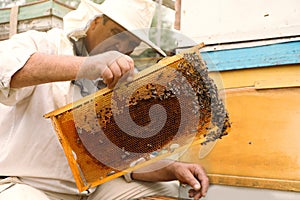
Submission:
[[[0,40],[28,30],[62,28],[63,16],[73,9],[57,0],[41,0],[12,8],[1,8]]]

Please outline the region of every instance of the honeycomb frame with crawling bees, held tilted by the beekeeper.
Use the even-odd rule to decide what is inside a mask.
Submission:
[[[45,115],[80,191],[227,134],[227,112],[198,48]]]

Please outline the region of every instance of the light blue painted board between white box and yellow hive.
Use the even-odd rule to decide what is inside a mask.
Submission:
[[[226,71],[300,63],[300,41],[206,51],[201,55],[209,71]]]

